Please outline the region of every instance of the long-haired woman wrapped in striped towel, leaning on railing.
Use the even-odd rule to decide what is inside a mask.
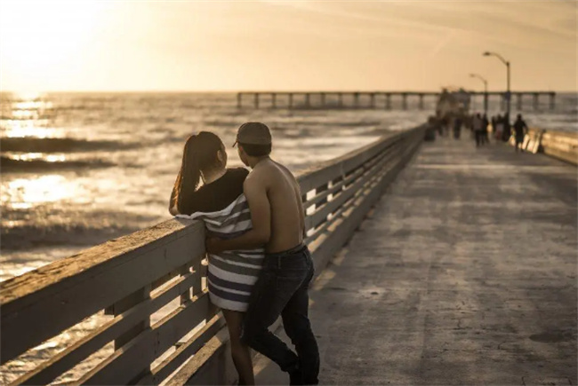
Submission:
[[[221,238],[251,229],[251,214],[243,194],[249,172],[244,168],[227,169],[226,165],[227,153],[219,137],[208,131],[189,137],[171,194],[171,214],[203,220],[207,232]],[[199,187],[201,180],[203,185]],[[254,384],[251,354],[240,335],[262,260],[262,249],[209,255],[209,295],[227,321],[239,384]]]

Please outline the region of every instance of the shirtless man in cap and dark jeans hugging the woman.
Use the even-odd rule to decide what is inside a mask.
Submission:
[[[237,143],[241,161],[252,169],[243,187],[253,229],[234,239],[210,238],[206,248],[219,253],[265,246],[241,340],[289,373],[291,384],[317,384],[319,351],[308,317],[308,288],[314,272],[303,244],[301,189],[291,172],[269,157],[271,134],[265,124],[241,125]],[[279,316],[297,354],[269,332]]]

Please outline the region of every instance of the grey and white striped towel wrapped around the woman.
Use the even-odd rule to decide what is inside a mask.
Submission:
[[[202,220],[207,234],[221,239],[238,237],[253,227],[245,194],[239,195],[225,209],[177,217]],[[209,254],[207,281],[211,302],[224,310],[246,311],[263,258],[263,248]]]

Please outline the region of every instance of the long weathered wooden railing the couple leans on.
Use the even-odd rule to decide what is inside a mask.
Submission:
[[[420,127],[392,134],[300,174],[317,273],[349,240],[423,133]],[[3,365],[28,360],[35,347],[94,314],[102,320],[12,383],[59,382],[72,369],[73,383],[231,384],[228,336],[209,302],[205,268],[203,224],[171,219],[1,283]],[[99,352],[101,360],[89,358]]]

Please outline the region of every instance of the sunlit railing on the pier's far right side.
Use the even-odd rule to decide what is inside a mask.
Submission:
[[[510,138],[510,145],[515,146],[515,139]],[[578,133],[530,129],[522,148],[532,153],[543,153],[574,165],[578,165]]]

